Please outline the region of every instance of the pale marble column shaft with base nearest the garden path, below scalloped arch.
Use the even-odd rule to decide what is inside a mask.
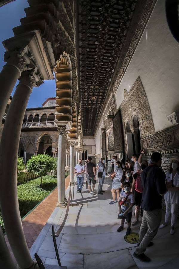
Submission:
[[[58,188],[58,207],[65,207],[64,203],[64,156],[65,156],[65,135],[63,131],[58,135],[58,162],[57,162],[57,188]]]

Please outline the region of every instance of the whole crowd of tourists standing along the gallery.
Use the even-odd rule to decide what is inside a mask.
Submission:
[[[160,168],[162,155],[154,152],[151,156],[151,163],[142,160],[144,150],[141,150],[139,158],[132,155],[131,160],[118,161],[116,156],[111,159],[112,174],[112,201],[110,205],[118,203],[118,219],[121,219],[121,225],[118,232],[124,229],[124,223],[127,223],[126,235],[131,233],[131,224],[135,226],[140,224],[139,243],[134,252],[134,256],[143,262],[150,262],[144,252],[147,247],[154,243],[152,239],[163,229],[171,217],[170,234],[175,233],[175,223],[179,207],[179,157],[170,159],[169,171],[165,174]],[[77,176],[77,193],[81,192],[83,187],[84,175],[87,177],[87,185],[90,195],[95,195],[96,170],[98,170],[98,194],[103,195],[102,189],[106,166],[105,158],[101,158],[98,165],[92,163],[89,157],[84,164],[79,159],[75,166],[74,173]],[[92,189],[91,189],[92,184]],[[161,224],[162,219],[162,197],[166,204],[165,222]],[[135,205],[135,221],[132,219],[132,208]],[[142,222],[139,221],[139,216]]]

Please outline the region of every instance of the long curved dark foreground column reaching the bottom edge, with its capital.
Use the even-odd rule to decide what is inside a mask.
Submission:
[[[7,238],[20,268],[35,268],[22,228],[17,196],[17,156],[21,126],[33,86],[39,78],[24,71],[13,95],[0,146],[0,204]],[[42,82],[42,81],[41,81]],[[7,156],[7,157],[5,157]]]

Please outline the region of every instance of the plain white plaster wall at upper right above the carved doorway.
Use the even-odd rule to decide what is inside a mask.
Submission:
[[[165,118],[179,111],[179,44],[166,22],[165,1],[158,0],[138,47],[115,94],[117,107],[140,76],[152,113],[155,132],[171,123]]]

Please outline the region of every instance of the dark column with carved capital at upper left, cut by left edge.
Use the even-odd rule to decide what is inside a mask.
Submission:
[[[6,51],[4,53],[4,62],[7,63],[0,73],[0,122],[2,121],[13,88],[26,64],[30,63],[30,60],[25,54],[22,56],[20,51]]]

